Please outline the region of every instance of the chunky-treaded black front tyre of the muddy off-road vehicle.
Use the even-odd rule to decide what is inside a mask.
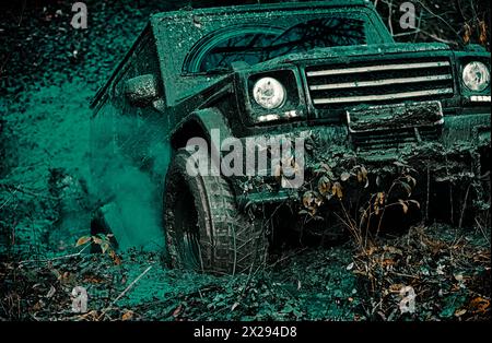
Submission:
[[[188,175],[188,159],[202,161],[180,149],[166,176],[164,222],[173,267],[235,274],[262,265],[268,240],[259,222],[237,210],[224,177]]]

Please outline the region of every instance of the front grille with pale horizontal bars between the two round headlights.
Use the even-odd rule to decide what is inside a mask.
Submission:
[[[316,108],[453,97],[448,59],[391,59],[306,68]]]

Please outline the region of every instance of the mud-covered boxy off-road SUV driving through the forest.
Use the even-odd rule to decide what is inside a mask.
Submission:
[[[405,212],[461,221],[457,199],[487,206],[490,99],[484,49],[397,44],[370,1],[155,14],[93,102],[94,226],[237,273],[291,228],[337,232],[337,206],[395,175],[425,194]]]

